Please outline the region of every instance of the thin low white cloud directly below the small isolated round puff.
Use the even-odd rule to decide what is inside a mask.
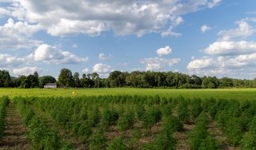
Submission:
[[[177,64],[179,61],[181,61],[180,58],[166,59],[162,57],[150,57],[143,59],[141,63],[146,65],[147,71],[160,71],[166,66]]]

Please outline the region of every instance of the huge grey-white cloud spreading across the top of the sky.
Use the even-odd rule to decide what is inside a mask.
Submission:
[[[36,23],[54,36],[97,36],[108,30],[117,35],[160,33],[162,36],[178,36],[172,29],[183,22],[183,14],[202,7],[212,8],[219,2],[221,0],[15,0],[10,7],[2,8],[0,13]]]

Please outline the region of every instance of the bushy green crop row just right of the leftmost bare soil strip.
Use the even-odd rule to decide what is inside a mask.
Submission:
[[[27,138],[31,142],[34,149],[72,149],[72,144],[64,143],[58,132],[46,124],[45,121],[40,120],[34,111],[30,109],[26,101],[22,98],[14,98],[17,103],[17,109],[22,115],[23,124],[29,128]]]

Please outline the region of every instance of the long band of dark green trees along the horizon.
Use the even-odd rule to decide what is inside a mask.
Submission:
[[[255,88],[254,80],[234,79],[230,77],[198,77],[174,72],[142,72],[131,73],[113,71],[106,78],[98,73],[72,73],[70,69],[61,69],[58,81],[51,76],[39,77],[38,73],[29,76],[10,77],[7,70],[0,70],[0,87],[43,88],[47,83],[58,83],[64,88],[173,88],[173,89],[217,89],[217,88]]]

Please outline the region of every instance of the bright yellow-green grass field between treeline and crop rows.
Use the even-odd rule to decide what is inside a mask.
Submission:
[[[236,100],[255,100],[256,89],[0,89],[0,96],[21,97],[76,97],[98,95],[151,95],[160,97],[199,97]]]

